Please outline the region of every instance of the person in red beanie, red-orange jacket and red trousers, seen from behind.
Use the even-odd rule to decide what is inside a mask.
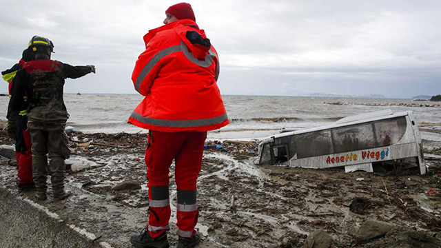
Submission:
[[[178,3],[165,11],[163,26],[144,36],[145,51],[132,74],[145,99],[128,123],[150,130],[145,163],[149,220],[130,241],[136,247],[168,247],[169,167],[175,161],[178,247],[194,247],[200,235],[196,180],[201,171],[207,131],[229,123],[216,84],[216,50],[196,24],[192,6]]]

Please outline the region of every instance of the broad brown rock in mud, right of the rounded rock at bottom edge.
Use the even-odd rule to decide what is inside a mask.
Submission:
[[[380,238],[391,231],[393,225],[381,221],[367,221],[360,225],[355,234],[356,243],[358,245],[369,242],[374,238]]]

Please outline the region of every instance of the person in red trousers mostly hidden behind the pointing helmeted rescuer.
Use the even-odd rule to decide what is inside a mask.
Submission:
[[[3,79],[9,83],[9,91],[12,87],[17,71],[23,68],[26,62],[31,61],[32,56],[26,48],[23,50],[23,54],[19,63],[16,63],[12,68],[1,72]],[[10,94],[9,94],[10,95]],[[23,101],[26,101],[24,96]],[[23,125],[17,126],[17,118],[20,120],[20,124],[27,123],[26,116],[10,116],[8,119],[8,136],[15,141],[15,159],[17,161],[17,187],[21,189],[29,189],[34,187],[34,180],[32,180],[32,152],[30,145],[30,134],[27,128]],[[19,128],[21,127],[21,128]]]

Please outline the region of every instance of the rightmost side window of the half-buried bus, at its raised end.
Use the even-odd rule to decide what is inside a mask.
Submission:
[[[406,132],[406,117],[393,118],[374,123],[378,145],[387,146],[398,143]]]

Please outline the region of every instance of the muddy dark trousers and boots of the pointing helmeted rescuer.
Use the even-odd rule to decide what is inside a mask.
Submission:
[[[65,124],[41,123],[30,121],[28,124],[32,141],[32,177],[37,187],[37,196],[45,196],[49,172],[54,197],[64,192],[64,160],[69,158],[68,137],[64,132]]]

